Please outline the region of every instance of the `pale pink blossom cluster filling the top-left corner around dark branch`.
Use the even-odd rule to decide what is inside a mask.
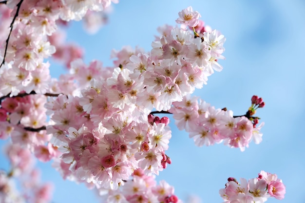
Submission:
[[[16,96],[19,92],[30,93],[33,90],[36,93],[46,93],[49,85],[45,83],[50,83],[51,77],[49,64],[45,63],[44,59],[56,52],[55,46],[48,41],[48,36],[56,32],[57,21],[81,20],[88,11],[101,11],[110,3],[111,0],[8,0],[6,13],[11,16],[17,15],[16,12],[19,13],[14,24],[11,25],[14,29],[10,33],[8,42],[6,43],[3,38],[0,39],[0,43],[6,43],[7,46],[4,49],[1,45],[1,56],[5,57],[7,63],[1,63],[0,96],[7,94]],[[4,19],[4,26],[8,19],[12,20],[10,15],[1,16],[1,19]],[[7,34],[8,30],[4,33]],[[61,53],[64,54],[63,51],[69,50],[71,55],[76,55],[68,57],[71,60],[81,56],[78,49],[73,49],[74,46],[68,48],[63,49]],[[60,53],[57,53],[57,58],[59,55]]]

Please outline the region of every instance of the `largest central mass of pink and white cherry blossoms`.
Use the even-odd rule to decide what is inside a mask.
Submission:
[[[221,70],[216,58],[223,58],[225,38],[215,31],[202,40],[170,26],[162,33],[150,53],[129,47],[114,52],[116,68],[71,63],[69,76],[84,89],[46,105],[53,122],[47,133],[62,152],[56,166],[65,178],[116,189],[133,170],[158,175],[171,162],[165,155],[169,121],[152,122],[150,113],[171,109],[201,88],[213,69]]]

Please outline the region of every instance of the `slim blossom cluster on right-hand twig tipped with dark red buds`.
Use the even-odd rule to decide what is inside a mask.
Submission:
[[[241,151],[248,147],[252,140],[258,144],[263,134],[259,132],[264,123],[256,126],[257,117],[254,115],[252,105],[244,116],[233,116],[232,111],[215,109],[209,103],[197,97],[184,97],[182,102],[174,102],[170,112],[173,114],[175,124],[179,130],[186,130],[197,146],[209,146],[223,142],[229,147],[239,147]],[[262,98],[261,102],[263,103]],[[255,102],[254,102],[255,103]],[[265,103],[264,103],[265,105]],[[259,104],[257,107],[263,107]],[[251,122],[253,121],[253,123]]]

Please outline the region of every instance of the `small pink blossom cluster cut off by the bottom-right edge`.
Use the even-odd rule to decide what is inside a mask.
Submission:
[[[225,203],[265,203],[269,197],[284,199],[285,185],[276,174],[261,171],[257,178],[241,178],[240,183],[229,178],[226,188],[220,189],[219,194]]]

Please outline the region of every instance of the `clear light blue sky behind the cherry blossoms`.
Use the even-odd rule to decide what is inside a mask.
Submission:
[[[172,139],[167,155],[172,164],[157,180],[175,187],[185,200],[194,194],[202,203],[221,203],[218,190],[228,177],[254,178],[261,170],[278,174],[286,184],[283,201],[305,202],[305,2],[303,0],[121,0],[114,4],[109,24],[96,35],[87,35],[81,23],[73,23],[68,41],[85,49],[85,61],[98,59],[111,66],[111,50],[124,45],[151,50],[156,28],[175,25],[178,12],[192,6],[207,24],[221,31],[227,41],[220,61],[224,70],[209,78],[208,85],[194,95],[217,108],[227,107],[234,115],[244,114],[252,95],[262,97],[266,106],[257,116],[265,122],[263,142],[251,143],[245,152],[223,144],[197,147],[184,131],[171,122]],[[50,67],[54,77],[63,73],[58,65]],[[170,117],[171,118],[171,117]],[[1,146],[3,141],[0,141]],[[54,203],[98,200],[84,185],[62,181],[50,164],[39,163],[42,179],[53,181]],[[0,168],[6,167],[0,157]]]

